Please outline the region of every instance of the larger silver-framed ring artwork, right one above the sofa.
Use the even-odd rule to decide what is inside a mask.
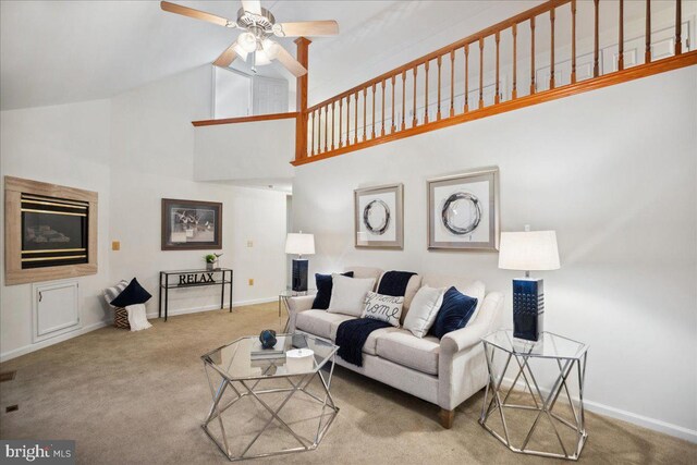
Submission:
[[[428,180],[428,248],[499,249],[499,169]]]

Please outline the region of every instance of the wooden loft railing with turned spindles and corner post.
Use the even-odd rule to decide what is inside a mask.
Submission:
[[[646,45],[645,62],[626,68],[624,56],[624,1],[619,0],[617,25],[617,53],[616,71],[600,73],[600,4],[602,0],[594,0],[594,37],[592,37],[592,74],[590,77],[577,79],[577,49],[576,49],[576,0],[550,0],[526,12],[515,15],[499,24],[488,27],[477,34],[428,53],[411,61],[400,68],[383,73],[370,81],[357,85],[344,93],[321,101],[303,111],[298,106],[298,122],[307,124],[306,137],[301,135],[298,127],[296,137],[295,166],[319,161],[341,154],[359,150],[374,145],[413,136],[428,131],[460,124],[466,121],[485,118],[492,114],[511,111],[570,95],[623,83],[639,77],[671,71],[674,69],[697,64],[697,52],[683,52],[682,49],[682,7],[681,0],[675,0],[675,47],[674,54],[669,58],[652,61],[651,58],[651,0],[646,2]],[[555,79],[555,21],[560,13],[565,13],[562,8],[568,8],[571,15],[571,73],[570,83],[560,85]],[[549,17],[549,82],[537,82],[536,73],[536,28],[541,27],[540,20]],[[528,27],[530,41],[530,89],[528,95],[522,96],[518,87],[518,37],[521,29]],[[539,34],[539,33],[538,33]],[[503,37],[512,41],[511,66],[512,88],[510,96],[503,96],[500,88],[500,73],[502,69],[500,42]],[[485,49],[492,44],[496,47],[496,63],[493,63],[494,95],[492,102],[485,101]],[[470,61],[472,53],[478,54],[478,88],[476,101],[470,99]],[[298,45],[298,57],[301,54]],[[305,46],[305,54],[307,49]],[[547,58],[547,56],[545,58]],[[462,64],[457,61],[462,60]],[[450,88],[441,88],[441,74],[443,64],[450,68]],[[488,64],[488,63],[487,63]],[[488,64],[489,65],[489,64]],[[455,70],[464,70],[462,79],[463,105],[456,106]],[[431,70],[435,71],[435,83],[429,83]],[[407,84],[407,78],[411,82]],[[437,101],[429,105],[429,85],[435,90]],[[304,93],[307,95],[307,82],[304,83]],[[435,86],[435,89],[433,87]],[[302,90],[298,79],[298,102]],[[540,87],[548,87],[540,89]],[[419,91],[419,90],[423,90]],[[450,96],[450,102],[443,108],[443,90]],[[448,91],[450,90],[450,91]],[[398,100],[395,100],[395,96]],[[460,96],[460,95],[458,95]],[[387,99],[386,99],[387,97]],[[423,106],[419,106],[419,97]],[[407,98],[411,98],[409,102]],[[387,103],[386,103],[387,100]],[[386,106],[387,105],[387,106]],[[429,106],[435,108],[431,110]],[[369,107],[369,108],[368,108]],[[411,110],[411,118],[406,118],[406,111]],[[419,121],[419,110],[421,118]],[[339,114],[337,114],[337,111]],[[432,113],[430,112],[432,111]],[[376,115],[377,112],[377,115]],[[359,117],[363,117],[359,125]],[[338,122],[338,124],[337,124]],[[298,124],[299,126],[299,124]]]

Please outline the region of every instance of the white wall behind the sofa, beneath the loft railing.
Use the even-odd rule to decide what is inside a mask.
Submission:
[[[697,441],[697,66],[296,169],[293,225],[310,272],[346,265],[481,278],[496,253],[428,252],[426,180],[498,166],[503,231],[557,230],[546,329],[590,344],[589,408]],[[353,246],[353,189],[402,182],[404,250]],[[591,431],[592,435],[592,431]]]

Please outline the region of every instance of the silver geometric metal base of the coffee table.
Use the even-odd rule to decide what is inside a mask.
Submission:
[[[306,451],[311,451],[317,449],[322,438],[325,437],[325,433],[327,432],[332,421],[337,417],[337,414],[339,413],[339,407],[334,404],[334,400],[330,393],[331,378],[334,371],[334,358],[335,356],[331,357],[331,366],[329,368],[328,374],[322,374],[322,369],[318,369],[316,372],[309,372],[309,374],[303,374],[303,375],[285,375],[285,376],[277,377],[276,379],[285,379],[290,384],[290,387],[288,388],[278,388],[278,389],[257,389],[257,386],[262,379],[232,381],[222,376],[221,376],[222,380],[218,386],[218,389],[216,389],[213,387],[210,372],[218,374],[219,376],[220,376],[220,372],[210,368],[208,364],[204,364],[205,370],[206,370],[206,377],[208,378],[208,386],[210,388],[210,394],[212,397],[212,404],[210,406],[208,416],[206,417],[206,419],[201,425],[201,428],[204,429],[204,431],[206,431],[208,437],[218,445],[218,448],[222,451],[222,453],[225,454],[225,456],[232,462],[247,460],[247,458],[258,458],[258,457],[281,455],[281,454],[288,454],[293,452],[306,452]],[[269,367],[268,369],[270,368],[271,367]],[[210,369],[210,372],[209,372],[209,369]],[[321,386],[323,391],[323,399],[321,393],[317,395],[308,390],[308,386],[316,377],[320,381],[319,384]],[[235,397],[233,397],[230,402],[221,406],[220,404],[221,404],[222,396],[228,390],[231,390],[235,394]],[[288,393],[288,395],[283,399],[283,401],[279,404],[279,406],[276,409],[273,409],[267,402],[264,401],[262,395],[269,394],[269,393],[280,393],[280,392],[285,392]],[[317,430],[314,438],[311,439],[306,438],[299,435],[298,432],[296,432],[281,417],[281,411],[296,393],[305,394],[313,402],[321,405],[321,413],[319,415]],[[237,401],[240,401],[245,396],[249,396],[250,399],[255,400],[259,405],[264,407],[264,409],[267,411],[267,413],[270,414],[270,417],[268,418],[268,420],[266,421],[261,430],[258,433],[256,433],[256,436],[252,439],[252,441],[243,448],[243,452],[240,455],[233,455],[230,450],[229,437],[225,433],[225,427],[222,421],[222,414],[225,411],[228,411],[230,407],[232,407]],[[327,415],[329,415],[329,418],[325,420]],[[211,431],[210,428],[208,427],[208,425],[216,419],[218,419],[218,424],[220,426],[220,431],[221,431],[220,438],[217,438],[216,433]],[[268,430],[268,428],[273,424],[274,419],[277,420],[277,424],[282,427],[282,429],[284,429],[291,436],[293,436],[293,438],[295,438],[298,445],[295,448],[283,449],[280,451],[269,451],[269,452],[264,452],[258,454],[248,454],[252,446]]]

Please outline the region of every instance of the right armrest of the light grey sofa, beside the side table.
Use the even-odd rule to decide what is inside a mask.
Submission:
[[[440,341],[441,351],[454,354],[478,344],[481,338],[498,327],[502,306],[503,294],[500,292],[487,294],[477,315],[477,319],[463,329],[443,335]]]

